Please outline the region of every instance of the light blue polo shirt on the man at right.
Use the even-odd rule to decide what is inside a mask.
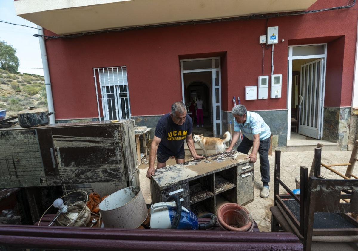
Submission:
[[[262,117],[254,112],[247,112],[246,121],[244,124],[237,123],[234,118],[234,131],[241,132],[248,139],[253,140],[253,135],[260,133],[260,140],[264,140],[270,137],[271,130],[267,126]]]

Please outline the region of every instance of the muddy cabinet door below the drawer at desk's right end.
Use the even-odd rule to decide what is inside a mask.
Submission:
[[[246,205],[253,201],[253,170],[237,176],[237,204]]]

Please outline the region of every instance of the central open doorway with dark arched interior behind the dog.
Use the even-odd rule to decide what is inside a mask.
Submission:
[[[193,118],[193,133],[207,137],[221,136],[221,74],[220,58],[195,58],[181,60],[183,102]],[[203,120],[198,107],[203,101]]]

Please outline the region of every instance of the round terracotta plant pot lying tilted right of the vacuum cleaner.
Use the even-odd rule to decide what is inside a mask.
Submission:
[[[252,231],[253,219],[246,208],[236,203],[221,205],[216,217],[221,229],[228,231]]]

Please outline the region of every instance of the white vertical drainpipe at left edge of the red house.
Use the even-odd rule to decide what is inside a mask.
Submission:
[[[39,29],[39,34],[43,35],[43,28],[37,25]],[[44,78],[45,78],[45,87],[46,87],[46,97],[47,97],[47,107],[48,112],[54,112],[53,109],[53,100],[52,100],[52,91],[51,91],[51,82],[50,82],[50,71],[48,70],[48,62],[47,62],[47,53],[45,47],[45,39],[42,36],[39,36],[40,42],[40,51],[41,51],[41,59],[42,59],[42,67],[44,70]],[[50,124],[55,124],[55,114],[49,116]]]

